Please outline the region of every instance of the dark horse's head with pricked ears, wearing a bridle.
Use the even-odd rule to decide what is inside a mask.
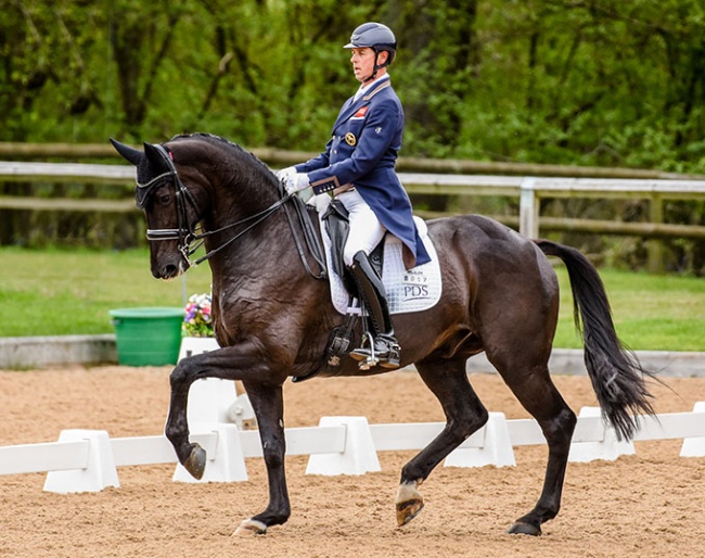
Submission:
[[[171,279],[189,266],[189,244],[200,220],[193,194],[185,188],[168,148],[144,142],[144,151],[111,139],[137,167],[137,207],[146,216],[152,275]]]

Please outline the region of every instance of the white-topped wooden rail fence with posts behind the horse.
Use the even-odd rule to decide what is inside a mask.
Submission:
[[[703,200],[705,180],[652,178],[568,178],[533,176],[456,175],[400,173],[410,193],[503,195],[518,198],[520,232],[538,238],[541,218],[540,200],[550,198],[644,199],[650,202],[650,223],[620,223],[544,217],[553,230],[634,234],[646,237],[705,238],[705,226],[665,224],[664,200]],[[134,168],[129,165],[80,163],[0,162],[0,181],[50,181],[104,185],[131,185]],[[0,208],[43,211],[134,211],[131,200],[42,199],[1,195]],[[662,269],[661,244],[650,246],[650,269]]]

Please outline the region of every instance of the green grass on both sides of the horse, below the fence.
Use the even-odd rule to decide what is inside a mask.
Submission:
[[[146,250],[3,248],[0,259],[0,337],[112,333],[112,308],[181,306],[184,293],[210,290],[206,264],[191,269],[185,279],[154,279]],[[561,314],[554,345],[579,348],[567,274],[562,266],[556,272]],[[600,275],[617,332],[628,346],[705,351],[705,280],[612,269]]]

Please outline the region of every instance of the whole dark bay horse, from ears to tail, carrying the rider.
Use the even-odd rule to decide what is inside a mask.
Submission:
[[[189,388],[201,378],[241,380],[259,424],[269,504],[235,533],[265,533],[291,515],[282,385],[290,377],[322,369],[329,333],[344,319],[333,307],[328,282],[311,272],[317,261],[302,254],[295,242],[302,226],[289,210],[300,200],[285,195],[264,163],[222,138],[178,136],[162,144],[144,143],[144,151],[113,144],[137,166],[137,205],[146,216],[154,277],[172,279],[184,272],[197,238],[209,255],[215,331],[222,348],[182,359],[171,372],[166,435],[179,461],[201,478],[206,457],[189,441]],[[541,524],[559,512],[576,424],[548,369],[559,284],[547,255],[567,267],[587,369],[603,414],[621,439],[638,429],[633,414],[653,414],[649,372],[623,350],[602,281],[578,251],[523,238],[478,215],[431,220],[428,233],[438,253],[443,296],[431,309],[393,319],[401,366],[415,365],[447,423],[402,468],[397,521],[406,524],[421,511],[419,485],[487,421],[488,411],[465,369],[466,360],[484,351],[548,442],[540,497],[509,529],[538,535]],[[384,371],[361,371],[350,358],[339,369],[343,376]]]

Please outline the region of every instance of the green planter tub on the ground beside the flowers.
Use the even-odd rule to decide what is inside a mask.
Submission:
[[[117,362],[125,366],[176,364],[181,346],[183,308],[108,310],[115,326]]]

